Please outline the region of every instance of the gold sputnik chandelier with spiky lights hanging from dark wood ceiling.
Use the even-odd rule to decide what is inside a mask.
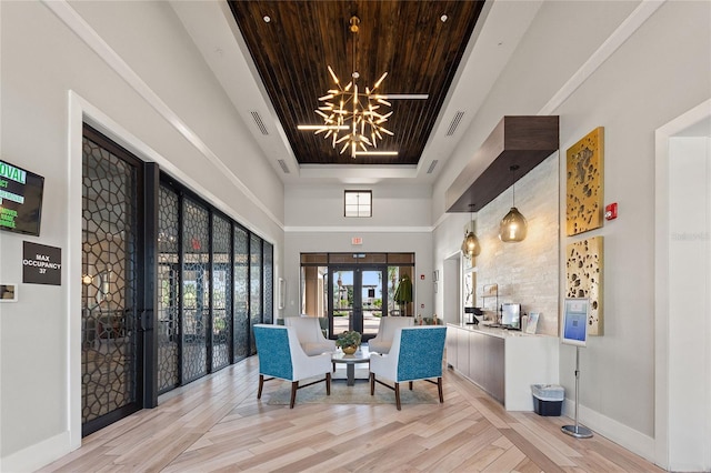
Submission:
[[[353,33],[353,72],[348,85],[342,87],[341,81],[328,66],[331,79],[336,83],[326,95],[320,97],[322,102],[316,112],[323,119],[323,124],[299,125],[300,130],[314,130],[314,134],[324,133],[323,138],[331,139],[333,149],[340,148],[340,153],[350,150],[351,158],[358,154],[391,154],[397,151],[373,151],[378,148],[378,140],[383,134],[393,135],[392,131],[384,128],[383,123],[392,114],[392,111],[381,113],[381,107],[392,107],[388,102],[388,95],[378,94],[375,90],[388,76],[384,72],[373,84],[372,89],[365,87],[364,92],[358,88],[360,74],[357,70],[357,43],[360,19],[351,17],[350,31]]]

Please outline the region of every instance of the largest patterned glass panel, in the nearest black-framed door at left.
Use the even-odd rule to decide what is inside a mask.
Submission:
[[[136,402],[133,165],[83,139],[82,423]]]

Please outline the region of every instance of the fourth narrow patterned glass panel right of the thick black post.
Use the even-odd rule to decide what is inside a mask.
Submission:
[[[234,355],[238,362],[249,356],[249,235],[239,227],[234,227]]]

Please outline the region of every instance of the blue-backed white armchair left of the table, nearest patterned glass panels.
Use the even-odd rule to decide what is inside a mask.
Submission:
[[[326,394],[331,395],[331,354],[322,353],[309,356],[303,352],[293,326],[254,325],[254,341],[259,356],[259,390],[257,399],[262,396],[264,381],[274,378],[291,381],[291,402],[293,409],[297,390],[326,381]],[[299,385],[308,378],[323,374],[322,380]],[[264,376],[271,376],[264,379]]]

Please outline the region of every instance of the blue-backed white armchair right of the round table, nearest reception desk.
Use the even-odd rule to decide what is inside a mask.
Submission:
[[[395,329],[390,352],[370,355],[370,395],[375,393],[375,383],[395,392],[395,404],[400,411],[400,383],[437,379],[440,403],[442,394],[442,359],[447,328],[441,325],[409,326]],[[394,386],[375,379],[375,375],[394,382]]]

